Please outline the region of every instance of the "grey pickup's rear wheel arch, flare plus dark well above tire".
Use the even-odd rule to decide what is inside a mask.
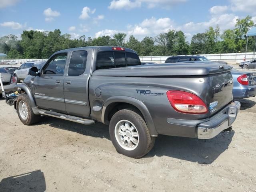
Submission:
[[[145,120],[148,130],[150,131],[151,136],[158,136],[158,132],[156,131],[156,128],[154,126],[154,122],[152,119],[152,116],[150,115],[150,112],[146,105],[135,98],[128,97],[128,96],[113,96],[111,98],[108,98],[106,102],[104,102],[103,108],[102,108],[102,116],[101,121],[104,124],[108,124],[110,121],[110,118],[114,115],[115,111],[118,111],[117,109],[120,108],[130,108],[134,107],[137,109],[141,115],[142,118]],[[110,116],[109,116],[110,115]]]

